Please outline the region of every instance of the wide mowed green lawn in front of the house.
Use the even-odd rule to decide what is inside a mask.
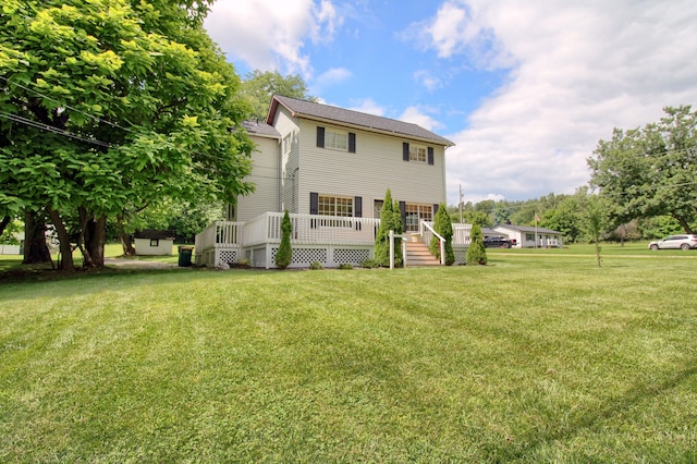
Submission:
[[[655,256],[0,283],[0,462],[695,462]]]

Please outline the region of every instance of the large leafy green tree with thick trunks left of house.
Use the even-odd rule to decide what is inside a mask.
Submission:
[[[232,200],[250,185],[246,106],[203,29],[205,0],[5,0],[0,213],[45,207],[103,266],[107,217],[154,198]],[[69,233],[76,224],[77,239]]]

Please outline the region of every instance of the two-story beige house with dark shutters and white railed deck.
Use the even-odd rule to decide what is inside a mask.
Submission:
[[[288,210],[289,267],[359,266],[372,255],[388,188],[407,241],[429,243],[445,203],[449,139],[416,124],[281,96],[271,99],[265,122],[247,121],[245,129],[256,144],[246,178],[255,192],[228,208],[227,221],[196,236],[197,265],[244,260],[273,268]],[[469,225],[453,225],[456,262],[463,262]]]

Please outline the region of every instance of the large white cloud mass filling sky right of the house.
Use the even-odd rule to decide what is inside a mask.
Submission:
[[[694,0],[447,1],[428,29],[440,57],[515,63],[468,126],[448,136],[457,144],[447,151],[449,202],[460,184],[480,199],[573,193],[613,127],[697,103],[695,21]]]

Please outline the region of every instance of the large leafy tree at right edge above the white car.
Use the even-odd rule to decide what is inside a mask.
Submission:
[[[697,112],[665,108],[641,129],[615,129],[588,159],[591,185],[609,205],[612,225],[668,215],[687,233],[697,221]]]

